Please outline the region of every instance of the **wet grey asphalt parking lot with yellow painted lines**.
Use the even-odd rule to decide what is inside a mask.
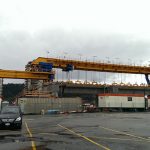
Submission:
[[[149,150],[150,113],[27,115],[0,130],[0,150]]]

